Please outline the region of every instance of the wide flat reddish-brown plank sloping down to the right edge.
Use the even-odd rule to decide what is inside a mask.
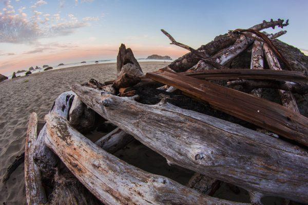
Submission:
[[[179,73],[158,70],[146,75],[207,101],[227,114],[308,146],[308,118],[297,112],[265,99]]]

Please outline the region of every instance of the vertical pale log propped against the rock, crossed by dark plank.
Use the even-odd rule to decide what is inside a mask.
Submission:
[[[252,48],[252,60],[251,60],[251,69],[262,70],[263,67],[263,43],[259,42],[259,40],[255,40],[253,48]],[[261,97],[262,89],[258,88],[252,91],[252,94]]]

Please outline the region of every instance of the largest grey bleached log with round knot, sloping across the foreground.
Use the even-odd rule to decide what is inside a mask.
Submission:
[[[72,90],[168,163],[247,190],[308,202],[308,155],[299,147],[170,104],[143,105],[79,85]]]

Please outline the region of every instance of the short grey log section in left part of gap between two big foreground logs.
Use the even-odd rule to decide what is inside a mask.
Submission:
[[[95,141],[95,144],[109,153],[114,153],[121,150],[129,142],[133,140],[133,137],[121,130],[115,128],[101,139]]]

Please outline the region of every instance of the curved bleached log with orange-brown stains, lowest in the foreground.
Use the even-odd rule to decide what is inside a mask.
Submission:
[[[46,115],[45,142],[66,167],[105,204],[245,204],[202,195],[150,174],[95,146],[53,113]]]

